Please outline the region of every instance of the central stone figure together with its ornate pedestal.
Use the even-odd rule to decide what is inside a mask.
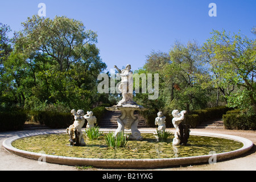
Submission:
[[[115,136],[126,129],[131,130],[129,139],[140,140],[142,137],[141,132],[138,130],[139,118],[134,116],[134,111],[147,109],[133,101],[133,72],[131,71],[131,65],[127,64],[123,70],[117,68],[117,66],[114,66],[114,68],[118,71],[117,75],[121,77],[118,89],[122,93],[122,100],[117,105],[106,107],[106,109],[110,111],[120,110],[122,113],[117,118],[118,128],[115,131]]]

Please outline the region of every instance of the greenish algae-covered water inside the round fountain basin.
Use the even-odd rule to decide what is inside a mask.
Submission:
[[[44,151],[48,155],[60,155],[93,159],[163,159],[209,155],[237,150],[241,142],[230,139],[201,137],[191,135],[187,146],[172,146],[170,137],[167,142],[158,142],[153,134],[142,134],[142,141],[129,140],[124,148],[109,148],[104,137],[89,140],[84,136],[86,146],[70,146],[67,134],[38,135],[15,140],[15,148],[31,152]]]

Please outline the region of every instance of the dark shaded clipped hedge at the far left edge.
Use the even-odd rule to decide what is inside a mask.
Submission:
[[[2,111],[0,118],[0,131],[21,130],[27,120],[27,114],[22,110]]]

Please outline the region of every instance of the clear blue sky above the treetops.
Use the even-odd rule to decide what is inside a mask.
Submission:
[[[131,64],[143,67],[152,50],[169,52],[175,40],[203,44],[212,30],[226,30],[255,38],[255,0],[0,0],[0,23],[13,31],[22,30],[28,16],[38,14],[38,4],[46,4],[47,18],[65,15],[81,20],[86,29],[98,34],[97,47],[110,68]],[[208,7],[216,3],[217,16]]]

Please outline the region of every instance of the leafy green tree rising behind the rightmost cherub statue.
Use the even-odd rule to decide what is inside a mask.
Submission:
[[[172,63],[164,70],[166,76],[172,80],[175,90],[172,104],[188,112],[201,109],[207,104],[206,94],[201,87],[203,80],[200,79],[207,72],[201,66],[200,55],[200,47],[196,42],[188,42],[187,45],[176,42],[170,51]]]

